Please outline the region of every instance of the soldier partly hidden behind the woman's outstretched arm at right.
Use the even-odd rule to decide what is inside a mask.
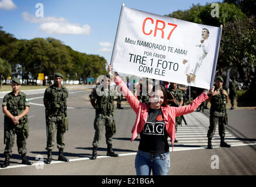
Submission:
[[[174,99],[178,102],[178,106],[182,106],[184,99],[183,99],[183,93],[182,93],[181,89],[178,88],[177,83],[171,82],[170,85],[171,86],[169,86],[169,88],[167,89],[167,92],[171,92],[172,95],[174,96]],[[168,105],[175,106],[175,105],[173,105],[173,102],[168,102]],[[181,124],[181,116],[175,117],[175,133],[177,133],[179,124]],[[177,143],[178,140],[175,139],[174,142]]]

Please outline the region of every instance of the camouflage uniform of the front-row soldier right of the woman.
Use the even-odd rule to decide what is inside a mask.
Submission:
[[[216,90],[216,89],[215,89]],[[215,134],[217,123],[219,122],[219,135],[225,137],[225,126],[227,124],[226,112],[226,96],[222,93],[223,89],[219,90],[219,95],[212,96],[210,100],[210,126],[207,133],[208,138],[212,138]]]

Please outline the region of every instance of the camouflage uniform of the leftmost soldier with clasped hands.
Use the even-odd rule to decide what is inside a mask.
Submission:
[[[6,106],[7,110],[13,115],[18,116],[29,106],[29,99],[23,92],[19,92],[17,96],[13,92],[8,93],[4,97],[2,106]],[[27,115],[19,120],[19,124],[13,124],[12,120],[5,116],[5,155],[12,155],[12,147],[14,144],[15,134],[17,136],[17,146],[19,154],[26,154],[26,138],[29,136],[29,122]]]

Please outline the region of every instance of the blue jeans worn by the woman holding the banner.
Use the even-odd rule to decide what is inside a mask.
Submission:
[[[163,154],[150,154],[141,150],[137,151],[135,168],[137,175],[168,175],[169,173],[169,152]]]

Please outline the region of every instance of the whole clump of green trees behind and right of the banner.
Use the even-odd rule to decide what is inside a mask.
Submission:
[[[204,25],[223,25],[216,71],[222,74],[223,68],[236,67],[244,78],[243,67],[251,70],[255,65],[255,17],[247,18],[234,4],[224,2],[218,6],[217,17],[212,17],[210,4],[192,5],[189,10],[172,12],[169,16]]]

